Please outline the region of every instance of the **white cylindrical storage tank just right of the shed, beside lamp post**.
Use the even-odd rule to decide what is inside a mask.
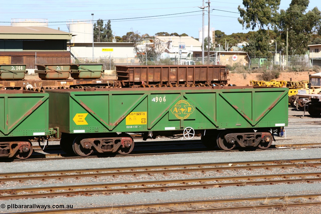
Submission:
[[[92,20],[67,20],[67,27],[73,34],[71,43],[92,43],[94,29]]]

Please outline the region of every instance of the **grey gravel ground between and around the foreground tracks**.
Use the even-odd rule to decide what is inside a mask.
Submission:
[[[317,123],[320,118],[311,118],[309,115],[300,118],[303,111],[294,111],[289,108],[289,127],[286,128],[286,139],[275,137],[274,144],[295,144],[295,143],[313,143],[319,142],[320,128]],[[307,113],[308,114],[308,113]],[[303,124],[302,122],[311,122]],[[235,162],[252,160],[272,160],[272,159],[298,159],[298,158],[320,158],[321,148],[308,149],[284,149],[284,150],[265,150],[265,151],[237,151],[237,152],[204,152],[172,155],[153,155],[153,156],[122,156],[122,157],[103,157],[103,158],[84,158],[70,160],[43,160],[32,162],[4,162],[0,169],[1,173],[9,172],[29,172],[42,170],[66,170],[66,169],[84,169],[84,168],[103,168],[103,167],[125,167],[141,165],[170,165],[170,164],[195,164],[195,163],[213,163],[213,162]],[[95,183],[115,183],[129,181],[146,180],[169,180],[182,179],[188,177],[218,177],[218,176],[240,176],[255,174],[280,174],[280,173],[299,173],[299,172],[321,172],[320,167],[301,167],[273,170],[239,170],[223,172],[189,173],[187,174],[153,174],[152,176],[119,176],[99,177],[99,178],[81,178],[66,180],[47,180],[47,181],[27,181],[27,182],[8,182],[0,183],[1,189],[12,189],[21,187],[36,186],[54,186],[67,184],[95,184]],[[298,184],[278,184],[261,186],[240,186],[240,187],[222,187],[211,189],[192,189],[183,191],[151,192],[151,193],[129,193],[112,195],[94,195],[91,197],[56,197],[41,199],[23,199],[13,201],[0,201],[4,204],[4,209],[0,208],[1,213],[18,211],[35,211],[35,209],[15,209],[15,205],[73,205],[73,208],[92,207],[92,206],[115,206],[121,204],[142,204],[167,201],[187,201],[187,200],[208,200],[224,198],[243,198],[243,197],[268,197],[296,194],[316,194],[321,192],[321,183],[298,183]],[[15,205],[14,205],[15,204]],[[2,206],[2,205],[1,205]],[[38,209],[44,210],[44,209]],[[48,209],[47,209],[48,210]],[[306,208],[284,208],[270,210],[250,210],[243,212],[218,212],[218,213],[320,213],[321,207]],[[95,212],[105,213],[105,212]],[[122,213],[112,211],[111,213]],[[125,213],[125,212],[123,212]]]

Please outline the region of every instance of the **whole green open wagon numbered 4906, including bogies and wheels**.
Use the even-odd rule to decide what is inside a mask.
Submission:
[[[180,87],[49,89],[49,127],[59,127],[67,152],[126,155],[129,133],[202,136],[208,145],[230,150],[268,148],[273,130],[288,124],[288,88]]]

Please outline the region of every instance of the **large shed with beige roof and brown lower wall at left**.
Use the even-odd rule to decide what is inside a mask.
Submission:
[[[47,21],[48,22],[48,21]],[[0,26],[0,64],[70,63],[72,33],[43,26]]]

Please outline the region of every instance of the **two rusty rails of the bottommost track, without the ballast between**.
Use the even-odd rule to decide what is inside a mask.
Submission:
[[[215,200],[201,200],[201,201],[175,201],[175,202],[163,202],[163,203],[148,203],[148,204],[132,204],[132,205],[118,205],[118,206],[104,206],[104,207],[87,207],[87,208],[74,208],[74,209],[61,209],[61,210],[39,210],[39,211],[28,211],[28,212],[16,212],[11,214],[61,214],[61,213],[77,213],[77,212],[97,212],[97,211],[112,211],[112,210],[129,210],[129,209],[148,209],[148,208],[165,208],[165,207],[178,207],[178,206],[193,206],[193,205],[204,205],[204,204],[215,204],[215,203],[237,203],[243,201],[265,201],[268,200],[288,200],[306,198],[313,200],[321,194],[308,194],[308,195],[287,195],[287,196],[271,196],[271,197],[256,197],[256,198],[235,198],[235,199],[215,199]],[[252,205],[252,206],[237,206],[237,207],[212,207],[202,209],[204,212],[209,211],[232,211],[232,210],[251,210],[251,209],[270,209],[270,208],[283,208],[286,207],[304,207],[304,206],[319,206],[321,202],[307,202],[307,203],[284,203],[284,204],[273,204],[273,205]],[[144,210],[146,211],[146,210]],[[200,209],[191,210],[168,210],[165,213],[200,213]],[[164,213],[164,212],[145,212],[151,213]]]

